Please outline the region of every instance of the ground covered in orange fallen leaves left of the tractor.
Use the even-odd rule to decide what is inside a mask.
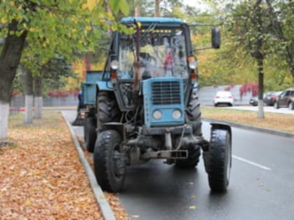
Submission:
[[[0,148],[0,219],[102,219],[61,114],[22,121],[10,116],[12,145]],[[109,201],[118,207],[115,195]]]

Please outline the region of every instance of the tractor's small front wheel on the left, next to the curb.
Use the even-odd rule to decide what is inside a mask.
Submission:
[[[103,190],[118,192],[125,183],[125,156],[120,152],[120,133],[106,130],[99,133],[94,149],[94,173]]]

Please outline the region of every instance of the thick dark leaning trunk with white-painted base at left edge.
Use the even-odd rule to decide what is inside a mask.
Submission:
[[[14,34],[17,31],[17,26],[16,20],[12,20],[8,24],[8,34],[0,56],[0,139],[7,138],[10,91],[27,38],[27,31],[22,32],[20,36]]]

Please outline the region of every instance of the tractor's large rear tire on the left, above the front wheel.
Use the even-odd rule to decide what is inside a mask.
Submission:
[[[106,130],[104,123],[119,122],[120,108],[113,92],[99,91],[97,96],[97,129],[98,133]]]

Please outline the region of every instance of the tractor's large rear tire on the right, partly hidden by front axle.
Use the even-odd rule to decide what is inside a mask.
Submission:
[[[197,96],[191,96],[187,113],[187,123],[192,124],[193,126],[193,135],[199,137],[202,136],[202,122],[201,122],[201,112],[200,112],[200,102],[198,101]],[[189,146],[182,147],[182,149],[188,150],[187,159],[178,159],[176,160],[176,167],[178,168],[195,168],[199,163],[201,150],[200,146]]]

